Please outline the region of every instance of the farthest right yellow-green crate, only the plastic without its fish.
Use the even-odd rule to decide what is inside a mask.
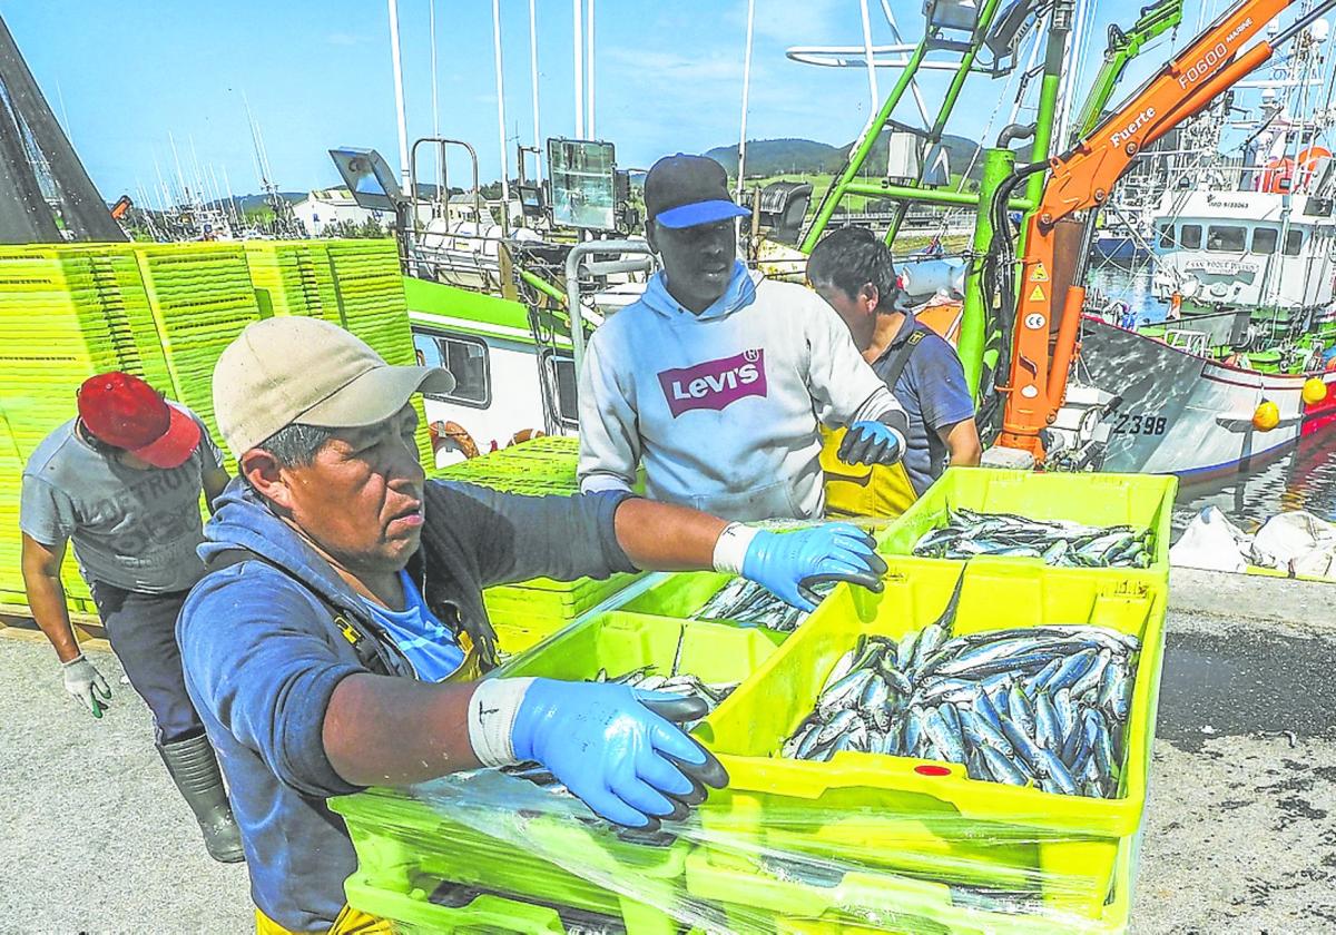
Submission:
[[[1148,570],[1169,580],[1169,538],[1178,478],[1161,474],[1043,474],[989,467],[950,467],[886,530],[876,533],[887,556],[911,556],[930,529],[945,526],[947,510],[1015,513],[1034,520],[1070,520],[1092,526],[1128,525],[1154,533]],[[943,561],[943,560],[939,560]],[[1039,558],[981,556],[973,561],[1039,565]],[[1085,569],[1118,573],[1126,569]]]

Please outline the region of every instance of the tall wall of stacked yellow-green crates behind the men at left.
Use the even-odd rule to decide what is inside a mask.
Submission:
[[[84,379],[107,370],[142,377],[194,410],[220,442],[212,370],[223,349],[261,318],[343,325],[345,307],[350,330],[386,361],[414,363],[393,242],[0,247],[0,600],[25,600],[23,465],[75,415]],[[430,463],[425,419],[418,446]],[[235,470],[230,455],[227,466]],[[92,610],[72,561],[64,582],[71,608]]]

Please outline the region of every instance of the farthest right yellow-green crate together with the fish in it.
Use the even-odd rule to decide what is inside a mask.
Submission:
[[[1168,580],[1178,481],[951,467],[888,529],[880,552],[1054,568],[1145,569]]]

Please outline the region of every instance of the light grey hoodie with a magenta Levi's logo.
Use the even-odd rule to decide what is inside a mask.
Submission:
[[[593,334],[580,374],[581,490],[629,490],[725,520],[818,518],[819,423],[899,403],[819,295],[733,263],[699,315],[663,272]]]

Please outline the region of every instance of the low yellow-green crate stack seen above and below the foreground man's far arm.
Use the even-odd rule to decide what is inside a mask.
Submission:
[[[528,497],[569,497],[578,489],[578,441],[565,437],[534,438],[442,467],[442,481],[460,481]],[[604,580],[553,581],[534,578],[488,588],[482,597],[497,632],[501,652],[517,653],[566,626],[581,614],[636,580],[613,574]]]

